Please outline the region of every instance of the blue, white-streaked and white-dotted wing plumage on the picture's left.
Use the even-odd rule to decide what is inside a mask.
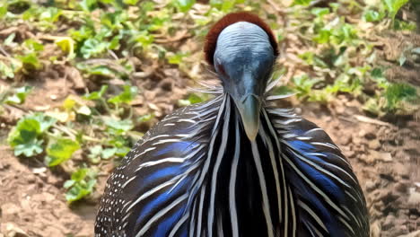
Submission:
[[[185,234],[176,224],[193,196],[218,102],[176,110],[144,135],[107,182],[95,236]]]

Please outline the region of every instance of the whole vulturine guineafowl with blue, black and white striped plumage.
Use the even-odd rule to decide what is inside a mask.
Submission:
[[[223,16],[204,54],[213,99],[175,110],[107,181],[95,236],[368,237],[351,164],[327,133],[279,108],[279,57],[266,22]]]

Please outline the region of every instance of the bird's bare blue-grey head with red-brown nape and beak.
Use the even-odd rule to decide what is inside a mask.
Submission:
[[[227,14],[206,36],[206,61],[232,97],[251,141],[258,134],[262,97],[277,50],[273,32],[251,13]]]

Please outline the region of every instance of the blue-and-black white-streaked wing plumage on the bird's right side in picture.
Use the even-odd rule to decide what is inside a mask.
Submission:
[[[369,236],[362,189],[331,138],[292,110],[268,110],[293,191],[296,236]]]

